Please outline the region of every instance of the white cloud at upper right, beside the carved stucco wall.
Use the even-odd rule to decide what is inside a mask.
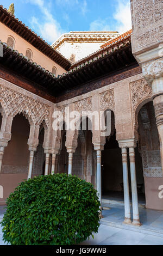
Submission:
[[[116,10],[112,15],[115,20],[115,26],[110,26],[108,19],[97,19],[90,24],[90,31],[118,31],[119,33],[127,32],[131,29],[131,14],[130,14],[130,2],[129,0],[116,0]],[[112,28],[112,29],[111,29]]]

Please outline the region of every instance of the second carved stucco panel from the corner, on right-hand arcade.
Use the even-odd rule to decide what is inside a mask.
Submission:
[[[92,111],[92,98],[86,98],[74,103],[74,110],[82,113],[83,111]]]

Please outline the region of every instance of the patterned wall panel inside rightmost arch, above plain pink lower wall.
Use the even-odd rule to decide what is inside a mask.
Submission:
[[[147,151],[141,147],[143,175],[145,177],[162,177],[160,150]]]

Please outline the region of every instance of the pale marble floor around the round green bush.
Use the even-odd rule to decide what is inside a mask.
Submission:
[[[155,210],[147,210],[140,208],[140,219],[143,225],[135,230],[127,230],[122,226],[124,218],[124,208],[121,205],[105,205],[109,206],[110,210],[103,210],[102,224],[99,227],[98,234],[94,234],[94,239],[91,237],[81,245],[163,245],[163,212]],[[3,217],[3,209],[0,206],[0,222]],[[111,227],[108,223],[110,221],[122,227]],[[129,225],[129,227],[131,227]],[[147,231],[142,232],[142,228]],[[148,230],[156,230],[162,233],[160,235],[148,234]],[[2,228],[0,227],[0,245],[5,243],[2,240]]]

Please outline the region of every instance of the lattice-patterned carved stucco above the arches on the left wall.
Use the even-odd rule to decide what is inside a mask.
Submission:
[[[23,113],[30,123],[40,125],[45,120],[46,125],[49,125],[51,107],[42,102],[2,86],[0,86],[0,102],[6,115],[15,117],[16,114]]]

